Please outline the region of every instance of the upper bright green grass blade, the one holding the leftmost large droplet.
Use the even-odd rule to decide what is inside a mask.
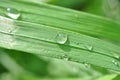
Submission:
[[[20,10],[22,21],[50,25],[94,37],[120,41],[120,24],[109,19],[43,3],[2,0],[0,6],[3,11],[8,7]]]

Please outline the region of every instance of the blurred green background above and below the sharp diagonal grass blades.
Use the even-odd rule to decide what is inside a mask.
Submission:
[[[23,0],[48,3],[120,20],[120,0]],[[0,80],[120,80],[115,71],[30,53],[0,49]],[[112,77],[116,77],[112,79]]]

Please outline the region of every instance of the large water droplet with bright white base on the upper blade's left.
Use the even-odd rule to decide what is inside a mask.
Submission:
[[[18,19],[20,15],[20,11],[13,8],[7,8],[7,16],[9,16],[10,18]]]

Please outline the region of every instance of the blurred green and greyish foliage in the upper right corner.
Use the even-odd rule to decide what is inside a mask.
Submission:
[[[89,5],[84,11],[119,21],[120,20],[120,1],[119,0],[94,0],[93,2],[89,3]]]

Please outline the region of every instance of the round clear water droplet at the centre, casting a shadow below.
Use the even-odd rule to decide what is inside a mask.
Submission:
[[[59,44],[65,44],[67,42],[67,34],[65,33],[58,33],[56,36],[56,42]]]

